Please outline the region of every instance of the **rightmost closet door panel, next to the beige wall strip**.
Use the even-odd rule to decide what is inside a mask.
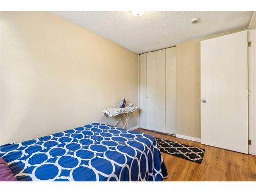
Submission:
[[[176,134],[176,47],[166,49],[165,133]]]

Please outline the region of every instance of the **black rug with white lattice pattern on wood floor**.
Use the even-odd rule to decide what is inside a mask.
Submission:
[[[196,163],[202,163],[204,152],[203,148],[189,146],[173,141],[156,138],[158,148],[161,152],[180,157]]]

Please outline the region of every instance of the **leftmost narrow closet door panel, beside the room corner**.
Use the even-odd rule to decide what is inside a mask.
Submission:
[[[146,54],[139,55],[139,127],[146,129]]]

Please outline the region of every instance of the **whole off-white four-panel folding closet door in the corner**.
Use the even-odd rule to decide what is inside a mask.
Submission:
[[[139,106],[139,127],[176,134],[176,46],[139,55]]]

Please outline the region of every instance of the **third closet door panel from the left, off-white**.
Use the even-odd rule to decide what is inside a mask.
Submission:
[[[156,52],[155,105],[155,130],[165,132],[165,49]]]

